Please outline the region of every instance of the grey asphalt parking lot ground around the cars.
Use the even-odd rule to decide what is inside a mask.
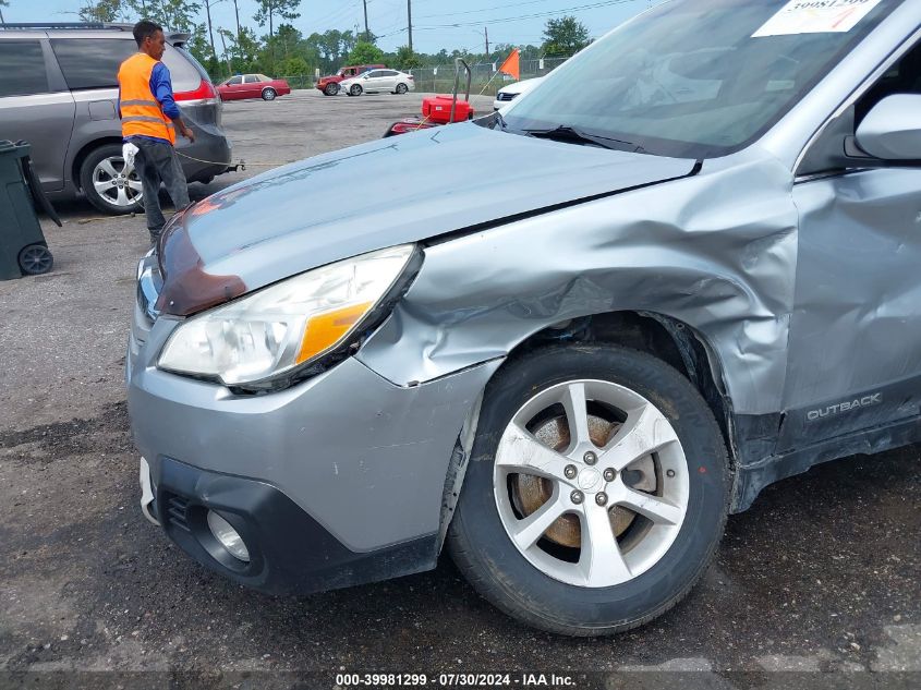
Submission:
[[[223,124],[247,169],[193,184],[191,196],[379,137],[421,99],[295,92],[228,104]],[[304,214],[348,206],[374,182],[305,199]],[[122,365],[144,219],[59,208],[63,228],[43,222],[53,271],[0,282],[0,670],[290,670],[331,687],[339,671],[658,668],[698,671],[713,688],[743,683],[716,677],[726,671],[921,673],[917,446],[769,487],[730,518],[718,559],[683,603],[617,638],[524,629],[447,557],[434,572],[304,598],[211,574],[137,506]],[[889,674],[881,687],[918,678]]]

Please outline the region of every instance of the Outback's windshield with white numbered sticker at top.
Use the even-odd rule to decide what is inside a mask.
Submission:
[[[766,132],[901,1],[670,0],[557,68],[505,122],[723,156]]]

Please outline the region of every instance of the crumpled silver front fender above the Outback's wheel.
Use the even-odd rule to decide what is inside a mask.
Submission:
[[[409,385],[506,356],[566,319],[653,312],[706,338],[737,412],[776,412],[796,275],[790,189],[779,162],[740,155],[695,177],[432,243],[359,356]]]

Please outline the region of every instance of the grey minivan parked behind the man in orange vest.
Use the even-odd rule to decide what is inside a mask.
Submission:
[[[124,170],[118,70],[137,51],[126,24],[0,25],[0,138],[25,140],[45,193],[83,193],[104,213],[143,208],[137,173]],[[210,182],[230,167],[221,101],[207,72],[171,34],[162,61],[195,143],[177,141],[190,182]]]

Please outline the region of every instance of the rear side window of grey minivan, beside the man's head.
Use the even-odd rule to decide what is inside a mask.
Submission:
[[[52,38],[51,48],[71,89],[116,88],[121,63],[137,52],[133,39]]]

